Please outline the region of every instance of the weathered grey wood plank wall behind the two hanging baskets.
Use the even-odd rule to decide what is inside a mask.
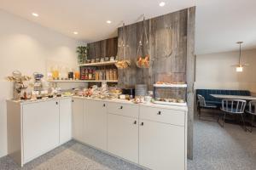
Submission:
[[[125,59],[131,60],[131,67],[119,70],[119,87],[133,88],[145,83],[152,89],[154,82],[186,82],[188,9],[146,20],[149,39],[150,67],[137,68],[138,42],[143,30],[143,22],[125,26]],[[118,29],[119,43],[123,28]],[[123,48],[118,48],[118,56],[123,56]]]

